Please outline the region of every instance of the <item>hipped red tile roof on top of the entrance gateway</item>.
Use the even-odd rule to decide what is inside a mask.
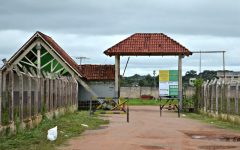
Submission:
[[[106,55],[192,55],[163,33],[136,33],[104,51]]]

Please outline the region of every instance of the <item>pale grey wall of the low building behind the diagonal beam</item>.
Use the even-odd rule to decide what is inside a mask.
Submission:
[[[99,97],[114,97],[114,81],[87,81],[86,83]],[[80,101],[92,98],[92,95],[81,85],[78,94]]]

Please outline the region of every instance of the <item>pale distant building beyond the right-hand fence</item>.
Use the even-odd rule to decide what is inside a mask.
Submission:
[[[224,78],[224,72],[223,71],[218,71],[217,72],[217,77],[219,79],[223,79]],[[240,71],[226,71],[225,72],[225,79],[227,81],[230,81],[230,80],[240,81]]]

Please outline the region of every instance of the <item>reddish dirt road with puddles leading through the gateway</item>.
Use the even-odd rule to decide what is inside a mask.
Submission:
[[[130,107],[130,123],[126,115],[108,115],[110,124],[71,139],[66,150],[196,150],[240,149],[236,136],[240,133],[215,128],[196,120],[177,118],[158,107]],[[233,139],[235,137],[235,139]]]

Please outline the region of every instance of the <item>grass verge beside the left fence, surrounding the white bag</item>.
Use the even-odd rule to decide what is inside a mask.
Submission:
[[[82,127],[82,123],[89,127]],[[52,150],[67,139],[79,136],[84,130],[96,129],[102,124],[108,124],[108,121],[101,120],[97,116],[90,117],[86,111],[66,114],[53,120],[45,118],[37,128],[26,129],[13,136],[0,137],[0,149]],[[51,142],[47,140],[47,131],[55,126],[58,126],[58,137],[56,141]]]

